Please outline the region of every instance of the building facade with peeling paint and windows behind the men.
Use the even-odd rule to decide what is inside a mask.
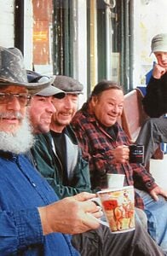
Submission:
[[[167,32],[166,0],[7,0],[0,44],[18,47],[27,69],[84,84],[82,101],[101,79],[128,92],[145,84],[150,41]]]

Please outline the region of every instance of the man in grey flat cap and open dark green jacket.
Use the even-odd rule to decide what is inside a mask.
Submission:
[[[63,198],[91,191],[88,163],[82,159],[81,149],[70,125],[78,108],[78,96],[83,93],[83,84],[59,75],[55,77],[53,85],[58,90],[64,90],[66,96],[53,99],[56,111],[52,116],[50,132],[38,135],[32,154],[37,170],[47,178],[56,194]]]

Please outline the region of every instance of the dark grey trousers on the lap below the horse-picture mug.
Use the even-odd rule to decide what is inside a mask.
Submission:
[[[107,226],[72,236],[72,244],[82,256],[162,256],[161,249],[141,224],[135,230],[112,234]]]

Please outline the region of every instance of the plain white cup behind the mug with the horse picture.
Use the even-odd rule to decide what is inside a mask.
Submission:
[[[108,188],[124,187],[124,174],[107,173]]]

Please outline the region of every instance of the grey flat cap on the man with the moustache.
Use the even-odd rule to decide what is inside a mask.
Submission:
[[[83,94],[83,84],[80,84],[78,80],[71,77],[58,75],[55,77],[52,85],[60,90],[64,90],[66,93]]]

